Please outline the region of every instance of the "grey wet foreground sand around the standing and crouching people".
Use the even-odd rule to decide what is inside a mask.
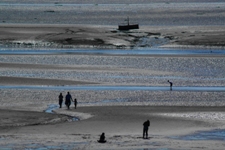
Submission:
[[[208,131],[224,127],[223,107],[144,107],[110,106],[79,107],[66,110],[63,107],[57,113],[67,111],[84,118],[75,122],[54,124],[49,114],[30,112],[1,111],[3,121],[6,114],[14,122],[28,119],[36,124],[15,126],[14,122],[2,125],[1,147],[16,149],[223,149],[220,140],[179,140],[176,136],[192,134],[196,131]],[[15,116],[15,113],[22,114]],[[214,120],[207,118],[211,113]],[[90,114],[89,116],[87,114]],[[173,114],[177,116],[174,117]],[[85,116],[88,116],[85,118]],[[33,119],[30,119],[32,117]],[[59,119],[54,117],[55,120]],[[44,120],[43,120],[44,119]],[[149,119],[149,139],[142,139],[142,123]],[[48,125],[44,121],[50,122]],[[53,119],[54,120],[54,119]],[[21,123],[20,122],[20,123]],[[11,127],[13,125],[14,127]],[[106,144],[97,140],[102,132],[106,134]],[[201,146],[200,146],[201,145]]]

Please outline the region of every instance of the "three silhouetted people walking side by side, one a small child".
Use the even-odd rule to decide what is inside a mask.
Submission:
[[[70,95],[70,92],[67,92],[67,95],[65,97],[65,105],[67,109],[70,109],[71,102],[74,102],[74,108],[77,108],[77,99],[75,98],[73,100],[72,96]],[[59,108],[62,108],[63,104],[63,95],[62,93],[59,94]]]

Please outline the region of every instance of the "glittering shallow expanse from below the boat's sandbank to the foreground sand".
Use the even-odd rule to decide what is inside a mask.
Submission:
[[[31,54],[29,54],[30,51]],[[211,51],[215,54],[211,55]],[[0,85],[0,93],[4,99],[10,100],[13,105],[15,105],[14,101],[19,101],[20,103],[16,105],[21,107],[39,104],[43,108],[45,104],[46,108],[48,104],[54,104],[57,101],[59,92],[67,91],[78,98],[80,105],[85,106],[126,104],[224,106],[225,57],[223,57],[223,50],[64,51],[63,49],[3,50],[1,52],[10,55],[0,55],[0,62],[12,64],[10,68],[7,66],[1,68],[1,76],[100,83],[85,86],[68,86],[63,83],[58,86],[32,85],[33,83]],[[41,54],[42,52],[44,54]],[[151,54],[158,55],[166,52],[170,54],[150,57]],[[126,56],[126,53],[132,53],[132,55]],[[140,56],[140,53],[143,55]],[[186,57],[189,54],[197,57]],[[207,56],[198,57],[204,54]],[[16,65],[20,64],[36,64],[38,68],[20,68],[20,66],[17,68]],[[172,91],[167,80],[174,83]],[[4,99],[1,99],[2,107],[12,105],[6,103]]]

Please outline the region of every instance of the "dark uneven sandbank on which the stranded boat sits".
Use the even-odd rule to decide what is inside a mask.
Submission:
[[[8,48],[206,48],[224,49],[225,26],[115,26],[1,24],[0,47]]]

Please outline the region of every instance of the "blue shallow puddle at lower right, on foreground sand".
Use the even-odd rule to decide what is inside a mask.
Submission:
[[[225,129],[199,131],[194,134],[170,137],[178,140],[219,140],[225,141]]]

